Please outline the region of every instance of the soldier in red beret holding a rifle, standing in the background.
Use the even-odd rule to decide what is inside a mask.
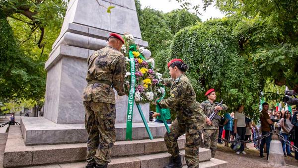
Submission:
[[[203,101],[201,103],[201,106],[204,110],[205,115],[210,116],[210,114],[216,110],[227,110],[227,106],[225,104],[222,104],[221,106],[218,106],[218,102],[214,102],[216,99],[215,90],[209,89],[206,94],[208,100]],[[221,119],[220,116],[216,115],[214,119],[212,120],[211,125],[207,125],[204,128],[204,148],[211,149],[211,156],[212,158],[215,157],[215,152],[217,149],[217,143],[218,143],[218,137],[219,137],[219,120]]]

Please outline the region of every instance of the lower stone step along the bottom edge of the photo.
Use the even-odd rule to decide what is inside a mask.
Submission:
[[[184,154],[184,151],[180,151],[180,155],[182,156],[182,163],[183,165],[186,165]],[[199,155],[200,162],[202,162],[200,163],[200,168],[224,168],[222,167],[225,164],[224,161],[219,162],[220,160],[211,159],[210,150],[200,148]],[[108,168],[163,168],[169,163],[169,161],[170,154],[168,153],[148,154],[135,157],[112,158],[112,161],[108,165]],[[216,162],[218,162],[218,165],[216,165]],[[34,166],[30,168],[84,168],[86,164],[86,162],[76,162]]]

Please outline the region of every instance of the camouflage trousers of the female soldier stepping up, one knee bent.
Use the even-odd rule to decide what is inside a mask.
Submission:
[[[199,147],[203,127],[196,119],[178,121],[177,119],[170,126],[170,133],[164,135],[164,141],[168,150],[173,157],[179,155],[178,137],[186,134],[185,142],[185,160],[188,168],[199,168]]]

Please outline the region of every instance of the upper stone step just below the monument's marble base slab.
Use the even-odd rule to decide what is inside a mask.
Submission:
[[[180,149],[184,149],[185,137],[178,139]],[[143,156],[166,152],[163,138],[153,140],[116,141],[112,156]],[[200,148],[200,155],[211,157],[210,150]],[[11,126],[4,151],[4,167],[29,166],[51,163],[83,161],[86,156],[86,144],[58,144],[25,146],[20,126]],[[204,157],[203,157],[204,158]]]

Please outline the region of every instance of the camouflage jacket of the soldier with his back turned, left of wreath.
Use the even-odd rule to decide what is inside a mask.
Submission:
[[[106,83],[87,84],[83,91],[83,101],[115,104],[115,93],[124,95],[125,59],[121,52],[105,47],[95,51],[87,59],[88,72],[86,81],[106,81]],[[108,84],[110,83],[110,84]]]

